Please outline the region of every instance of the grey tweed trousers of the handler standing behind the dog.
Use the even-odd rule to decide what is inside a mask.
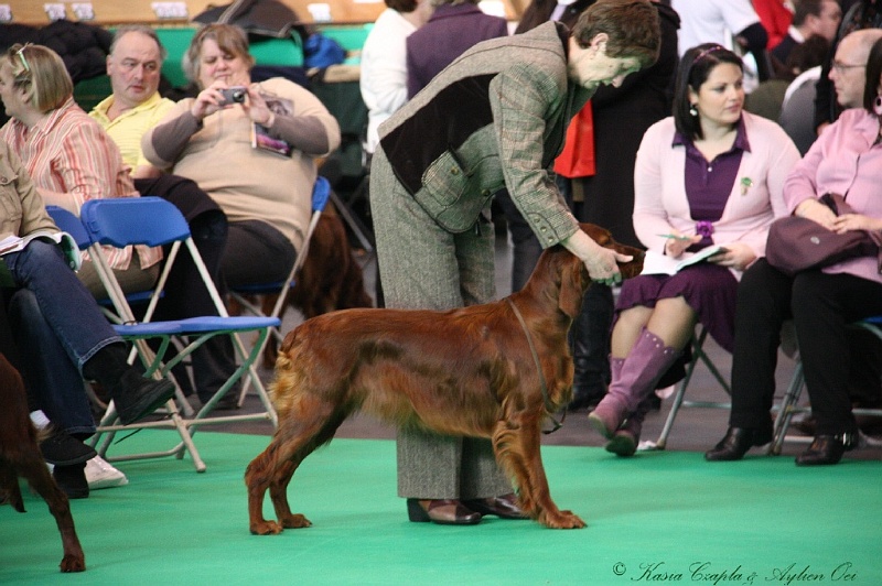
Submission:
[[[398,182],[381,148],[370,163],[370,210],[387,307],[450,310],[495,299],[494,230],[442,229]],[[476,499],[512,492],[488,440],[401,430],[398,496]]]

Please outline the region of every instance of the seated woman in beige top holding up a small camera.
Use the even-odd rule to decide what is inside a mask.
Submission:
[[[282,78],[251,83],[254,65],[241,29],[201,29],[184,55],[200,94],[141,142],[153,165],[195,181],[226,213],[222,274],[232,287],[286,279],[309,224],[315,158],[340,144],[315,96]]]

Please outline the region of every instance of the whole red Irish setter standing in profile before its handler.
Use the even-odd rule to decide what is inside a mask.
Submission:
[[[642,251],[603,228],[583,224],[582,230],[634,257],[620,265],[623,276],[641,272]],[[572,395],[567,333],[590,283],[584,264],[556,246],[526,286],[502,301],[448,312],[346,310],[289,333],[270,387],[279,428],[245,473],[251,533],[310,527],[291,512],[288,484],[358,410],[399,426],[491,438],[525,513],[549,528],[583,528],[551,500],[539,444],[542,421]],[[278,521],[263,519],[267,490]]]

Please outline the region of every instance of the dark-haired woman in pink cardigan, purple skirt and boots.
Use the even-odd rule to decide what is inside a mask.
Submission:
[[[644,274],[622,286],[606,397],[589,415],[606,449],[634,454],[649,395],[701,322],[732,350],[735,290],[765,253],[768,225],[786,214],[784,181],[799,160],[774,122],[743,111],[743,66],[717,44],[690,48],[677,72],[674,116],[643,138],[634,171],[634,229],[648,248]],[[656,273],[653,258],[707,262]]]

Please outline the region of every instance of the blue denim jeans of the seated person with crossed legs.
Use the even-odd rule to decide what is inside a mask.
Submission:
[[[74,432],[88,431],[84,426],[94,431],[83,391],[83,365],[122,338],[54,243],[34,240],[3,260],[15,285],[25,290],[13,295],[10,317],[19,324],[15,336],[33,386],[30,392],[55,424]]]

